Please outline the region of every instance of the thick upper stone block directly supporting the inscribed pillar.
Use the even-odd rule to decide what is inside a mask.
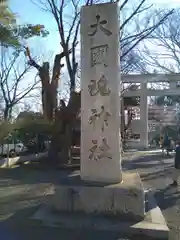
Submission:
[[[55,211],[144,219],[145,194],[139,174],[122,176],[123,182],[104,186],[69,177],[64,179],[67,185],[55,187],[49,204]]]

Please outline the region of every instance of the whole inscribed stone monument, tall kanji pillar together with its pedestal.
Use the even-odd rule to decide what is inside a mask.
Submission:
[[[128,236],[137,230],[139,236],[147,224],[148,234],[155,227],[159,234],[164,232],[164,225],[160,228],[159,223],[151,224],[149,218],[139,225],[145,217],[145,194],[139,174],[121,171],[118,23],[114,3],[82,8],[80,174],[82,180],[91,182],[81,181],[78,172],[63,176],[54,186],[48,209],[52,205],[53,211],[63,212],[56,216],[62,216],[60,224],[68,228],[123,230]],[[76,213],[77,221],[73,219]],[[122,219],[130,222],[124,225]]]

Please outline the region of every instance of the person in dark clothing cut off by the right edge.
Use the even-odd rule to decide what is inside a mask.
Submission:
[[[174,170],[172,175],[173,183],[171,184],[171,186],[178,185],[178,178],[180,176],[180,141],[178,141],[175,151]]]

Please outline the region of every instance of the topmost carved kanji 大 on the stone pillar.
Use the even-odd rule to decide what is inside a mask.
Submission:
[[[100,29],[106,36],[112,35],[112,32],[104,27],[107,24],[107,20],[100,20],[100,15],[96,15],[96,23],[91,24],[90,28],[92,29],[91,33],[88,33],[89,36],[93,37],[97,33],[98,29]]]

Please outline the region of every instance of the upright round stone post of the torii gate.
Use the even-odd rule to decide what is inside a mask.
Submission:
[[[148,148],[148,101],[147,101],[147,83],[141,83],[141,97],[140,97],[140,146]]]

